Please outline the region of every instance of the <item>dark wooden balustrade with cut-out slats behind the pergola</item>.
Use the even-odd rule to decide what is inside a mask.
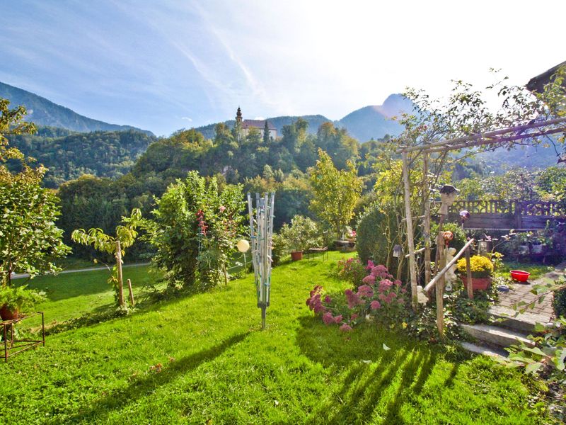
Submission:
[[[548,220],[566,220],[566,208],[555,202],[457,200],[449,210],[449,221],[460,222],[461,210],[470,212],[464,229],[541,230]]]

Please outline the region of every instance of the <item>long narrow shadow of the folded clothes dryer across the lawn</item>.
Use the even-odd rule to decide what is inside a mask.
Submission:
[[[165,365],[161,372],[157,373],[155,371],[151,371],[148,375],[137,378],[127,387],[118,388],[102,399],[88,403],[88,406],[84,406],[79,409],[79,412],[77,412],[74,416],[71,416],[71,418],[69,418],[69,422],[86,421],[87,423],[92,424],[105,422],[105,419],[108,418],[108,414],[110,414],[110,412],[122,409],[127,406],[127,404],[151,394],[151,392],[157,390],[158,387],[167,385],[168,382],[171,382],[179,375],[190,373],[202,363],[213,361],[214,358],[221,356],[221,354],[228,348],[238,344],[243,341],[243,339],[246,339],[248,334],[249,332],[244,332],[242,334],[234,335],[221,342],[221,344],[181,358],[169,365]]]

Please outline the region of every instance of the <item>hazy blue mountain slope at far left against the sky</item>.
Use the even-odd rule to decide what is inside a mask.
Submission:
[[[28,110],[25,120],[33,121],[37,125],[67,128],[78,132],[91,131],[125,131],[135,130],[146,135],[153,136],[149,130],[141,130],[130,125],[108,124],[103,121],[93,120],[71,111],[69,108],[57,105],[46,98],[37,96],[30,91],[18,89],[0,82],[0,98],[10,101],[11,107],[23,105]]]

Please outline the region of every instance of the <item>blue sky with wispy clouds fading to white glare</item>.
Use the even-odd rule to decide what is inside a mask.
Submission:
[[[539,7],[538,10],[536,7]],[[0,0],[0,81],[156,135],[332,120],[411,86],[512,84],[566,60],[566,1]]]

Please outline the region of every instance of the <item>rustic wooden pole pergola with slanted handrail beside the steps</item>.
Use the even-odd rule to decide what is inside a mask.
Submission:
[[[404,186],[404,198],[405,198],[405,221],[407,225],[407,244],[408,244],[408,257],[409,257],[409,274],[411,281],[411,295],[412,295],[412,307],[416,310],[418,305],[418,290],[417,290],[417,267],[415,259],[415,240],[413,233],[413,217],[410,207],[410,179],[409,179],[409,162],[408,154],[410,152],[417,152],[423,154],[422,159],[422,196],[423,196],[423,227],[424,227],[424,248],[420,251],[424,251],[424,278],[427,285],[424,287],[424,291],[427,292],[436,288],[437,293],[437,324],[439,327],[440,334],[442,334],[442,329],[444,327],[444,312],[439,311],[442,309],[442,292],[444,290],[444,273],[449,270],[451,266],[456,263],[456,261],[464,254],[469,256],[469,248],[473,243],[473,239],[468,241],[466,246],[456,254],[454,259],[450,261],[449,264],[445,264],[443,261],[444,257],[444,237],[443,232],[440,232],[437,237],[437,251],[441,251],[441,258],[439,259],[439,264],[437,265],[437,273],[434,278],[431,274],[430,266],[430,201],[429,201],[429,182],[428,182],[428,169],[429,169],[429,155],[437,152],[450,152],[460,149],[469,149],[478,146],[487,147],[487,149],[495,149],[497,147],[502,147],[504,145],[509,145],[509,143],[517,142],[519,140],[533,139],[535,137],[541,137],[546,135],[552,135],[560,132],[566,132],[566,118],[555,118],[553,120],[533,120],[528,124],[517,125],[515,127],[502,128],[499,130],[493,130],[490,132],[477,133],[474,135],[468,135],[464,137],[458,137],[450,140],[441,140],[439,142],[427,143],[424,145],[411,146],[411,147],[400,147],[396,150],[396,153],[401,154],[403,159],[403,186]],[[442,220],[442,217],[441,217]],[[441,230],[441,229],[440,229]],[[445,260],[445,257],[444,257]],[[468,295],[473,297],[473,292],[470,284],[470,273],[468,266]]]

